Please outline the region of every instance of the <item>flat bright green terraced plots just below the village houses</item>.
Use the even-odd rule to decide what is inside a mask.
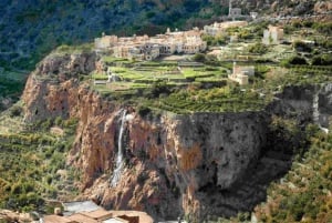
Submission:
[[[156,81],[167,81],[170,84],[187,85],[190,82],[222,82],[229,72],[227,68],[222,67],[178,67],[177,62],[162,61],[162,62],[136,62],[129,67],[123,64],[114,64],[113,62],[126,61],[124,59],[115,59],[106,57],[107,61],[112,60],[112,64],[107,67],[112,73],[120,78],[121,81],[107,83],[104,85],[96,85],[96,90],[116,91],[129,88],[148,88]],[[93,73],[91,77],[96,81],[106,81],[106,73]]]

